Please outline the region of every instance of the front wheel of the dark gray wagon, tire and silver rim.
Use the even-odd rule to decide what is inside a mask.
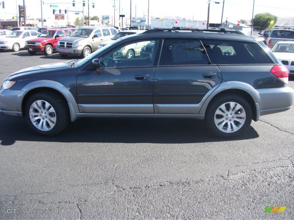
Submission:
[[[24,116],[27,125],[42,136],[54,136],[69,123],[66,101],[59,94],[41,92],[26,101]]]

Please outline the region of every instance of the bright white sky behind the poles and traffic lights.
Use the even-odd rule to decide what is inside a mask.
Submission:
[[[0,7],[1,20],[10,19],[18,13],[18,5],[23,5],[24,0],[4,0],[5,9]],[[102,17],[109,15],[113,21],[114,13],[116,25],[118,25],[119,14],[125,14],[126,18],[148,17],[151,18],[185,18],[190,20],[207,20],[208,0],[86,0],[90,2],[90,16]],[[253,10],[254,1],[254,10]],[[72,0],[42,0],[43,18],[54,18],[50,4],[58,5],[58,8],[64,11],[82,11],[82,0],[75,0],[76,6],[72,6]],[[92,8],[92,2],[95,8]],[[219,2],[220,4],[216,4]],[[223,4],[224,2],[224,4]],[[28,18],[41,18],[41,0],[25,0],[26,14]],[[115,7],[113,7],[115,5]],[[132,7],[131,7],[132,5]],[[224,7],[223,7],[224,6]],[[132,10],[130,10],[132,9]],[[210,2],[209,23],[220,23],[223,11],[223,22],[227,19],[230,22],[237,22],[240,19],[250,21],[253,15],[257,13],[268,12],[278,17],[294,17],[293,0],[216,0]],[[64,13],[64,12],[62,12]],[[82,13],[80,13],[79,16]],[[84,15],[88,14],[88,7],[84,7]],[[68,12],[69,18],[76,18],[74,12]],[[294,19],[294,18],[293,18]],[[146,21],[147,23],[147,21]]]

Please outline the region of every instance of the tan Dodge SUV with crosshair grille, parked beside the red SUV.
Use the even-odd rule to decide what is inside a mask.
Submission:
[[[97,50],[99,43],[110,40],[117,32],[113,27],[78,28],[69,37],[58,41],[56,51],[62,56],[80,55],[83,58]]]

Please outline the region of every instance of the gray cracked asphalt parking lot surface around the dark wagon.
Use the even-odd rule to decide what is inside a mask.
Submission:
[[[1,51],[0,81],[70,59]],[[293,114],[229,140],[191,119],[79,119],[44,138],[0,114],[0,219],[293,219]]]

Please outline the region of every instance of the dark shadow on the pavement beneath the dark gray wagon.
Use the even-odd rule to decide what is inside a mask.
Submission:
[[[0,116],[1,145],[15,141],[90,142],[90,143],[203,143],[258,138],[252,126],[238,138],[214,137],[204,122],[196,119],[106,119],[86,118],[70,123],[54,137],[42,137],[30,131],[22,118]],[[252,122],[254,123],[254,122]]]

